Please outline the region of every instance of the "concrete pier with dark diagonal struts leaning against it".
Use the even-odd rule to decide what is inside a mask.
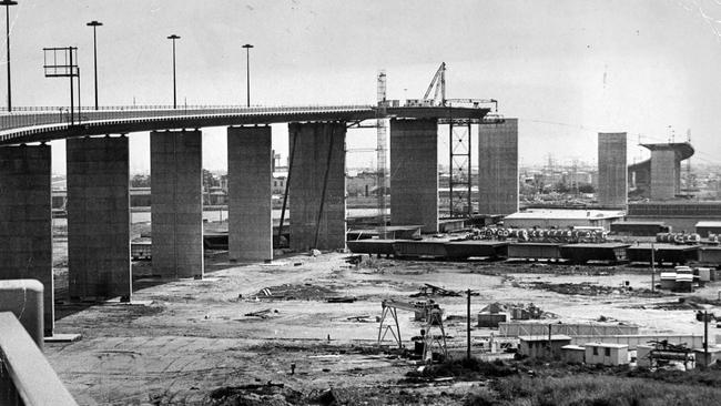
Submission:
[[[293,250],[345,247],[345,122],[288,124]]]

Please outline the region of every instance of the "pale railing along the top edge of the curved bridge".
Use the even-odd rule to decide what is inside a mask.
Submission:
[[[347,111],[366,110],[370,105],[306,105],[306,106],[237,106],[237,105],[192,105],[173,109],[165,105],[124,105],[83,108],[75,111],[73,122],[75,124],[88,121],[126,120],[143,118],[172,118],[187,115],[214,115],[214,114],[283,114],[293,112],[314,111]],[[70,111],[67,108],[53,106],[29,106],[14,108],[12,112],[0,112],[0,130],[12,130],[29,126],[49,124],[70,124]]]

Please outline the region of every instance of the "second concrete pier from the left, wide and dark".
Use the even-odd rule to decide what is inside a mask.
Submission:
[[[68,274],[70,297],[132,294],[126,136],[69,139]]]

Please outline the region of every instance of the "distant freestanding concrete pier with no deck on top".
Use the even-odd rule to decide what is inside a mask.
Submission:
[[[598,133],[598,204],[607,209],[628,205],[624,132]]]

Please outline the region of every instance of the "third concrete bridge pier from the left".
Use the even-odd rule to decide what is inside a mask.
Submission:
[[[203,277],[203,144],[199,130],[150,133],[153,274]]]

